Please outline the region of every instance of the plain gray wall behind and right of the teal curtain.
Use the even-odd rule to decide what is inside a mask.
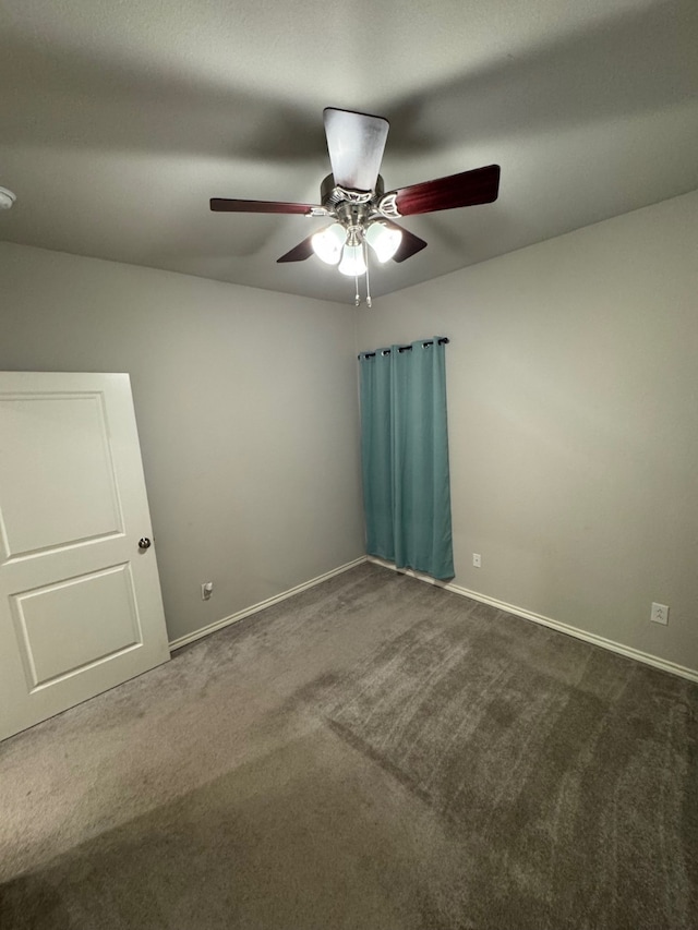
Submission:
[[[357,329],[360,350],[452,339],[456,583],[698,669],[698,193],[376,300]]]

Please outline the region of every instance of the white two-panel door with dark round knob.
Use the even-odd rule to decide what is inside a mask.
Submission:
[[[0,372],[0,739],[169,659],[152,539],[129,375]]]

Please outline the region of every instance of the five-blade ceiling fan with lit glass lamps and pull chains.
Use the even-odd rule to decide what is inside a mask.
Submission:
[[[435,181],[423,181],[385,193],[378,174],[389,123],[383,117],[327,107],[323,111],[332,174],[321,184],[320,204],[280,201],[237,201],[213,197],[210,209],[219,213],[302,214],[329,217],[333,222],[309,235],[277,258],[303,262],[314,253],[344,275],[366,275],[369,247],[380,262],[404,262],[425,247],[426,242],[395,220],[404,216],[489,204],[497,198],[500,166],[488,165]]]

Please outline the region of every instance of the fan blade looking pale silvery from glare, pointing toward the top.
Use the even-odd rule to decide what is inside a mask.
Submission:
[[[334,107],[327,107],[323,118],[335,184],[352,191],[372,191],[388,137],[388,121]]]

